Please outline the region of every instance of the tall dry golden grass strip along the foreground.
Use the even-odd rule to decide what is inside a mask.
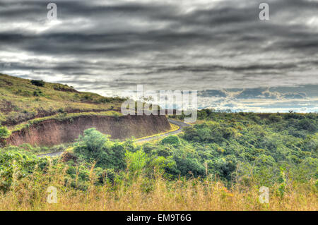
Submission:
[[[156,175],[157,174],[157,175]],[[317,210],[314,181],[290,183],[283,193],[279,186],[270,188],[269,204],[259,202],[257,186],[233,186],[228,190],[220,181],[179,179],[167,181],[159,173],[153,178],[131,174],[122,180],[95,186],[90,171],[86,191],[73,188],[66,180],[64,166],[49,166],[47,173],[35,171],[18,179],[0,195],[0,210]],[[58,189],[57,204],[47,203],[47,187]],[[75,181],[76,186],[76,181]]]

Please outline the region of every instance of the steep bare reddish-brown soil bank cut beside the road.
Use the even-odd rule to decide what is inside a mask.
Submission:
[[[111,139],[141,138],[170,130],[165,116],[78,116],[64,120],[49,119],[14,131],[8,145],[52,146],[73,142],[88,128],[111,135]]]

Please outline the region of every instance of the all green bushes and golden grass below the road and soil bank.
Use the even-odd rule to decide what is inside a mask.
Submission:
[[[198,115],[183,133],[142,144],[89,128],[60,157],[0,148],[0,210],[317,211],[317,114]],[[45,202],[49,186],[56,204]]]

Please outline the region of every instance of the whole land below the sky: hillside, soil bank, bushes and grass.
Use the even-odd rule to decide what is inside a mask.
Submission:
[[[203,109],[178,135],[135,142],[167,118],[125,118],[124,99],[41,80],[0,75],[0,91],[0,210],[318,209],[317,114]]]

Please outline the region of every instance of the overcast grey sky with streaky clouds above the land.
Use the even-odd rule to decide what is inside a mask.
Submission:
[[[0,0],[0,73],[200,107],[318,111],[318,0]],[[270,20],[259,20],[259,4]]]

